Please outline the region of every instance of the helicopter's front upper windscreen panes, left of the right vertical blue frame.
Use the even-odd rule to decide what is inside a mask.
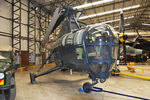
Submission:
[[[86,35],[87,52],[89,59],[108,59],[110,33],[100,27],[91,29]]]

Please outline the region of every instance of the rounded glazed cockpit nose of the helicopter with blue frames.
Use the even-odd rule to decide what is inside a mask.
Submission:
[[[96,25],[86,33],[85,45],[91,74],[105,80],[117,60],[117,37],[108,25]]]

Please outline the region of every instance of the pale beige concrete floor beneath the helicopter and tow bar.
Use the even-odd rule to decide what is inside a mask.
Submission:
[[[70,75],[69,72],[57,71],[37,78],[38,84],[32,85],[29,78],[30,71],[16,72],[15,100],[136,100],[103,92],[79,93],[78,88],[91,80],[87,78],[87,74],[80,75],[77,72]],[[148,74],[150,75],[150,72]],[[150,81],[147,80],[111,76],[105,83],[99,83],[97,86],[114,92],[150,98]]]

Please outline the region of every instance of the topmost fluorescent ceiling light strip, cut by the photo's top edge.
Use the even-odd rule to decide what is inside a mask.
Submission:
[[[87,8],[87,7],[91,7],[94,5],[99,5],[99,4],[103,4],[103,3],[107,3],[107,2],[111,2],[113,0],[101,0],[101,1],[96,1],[96,2],[92,2],[92,3],[87,3],[87,4],[83,4],[83,5],[79,5],[76,7],[73,7],[74,9],[81,9],[81,8]]]

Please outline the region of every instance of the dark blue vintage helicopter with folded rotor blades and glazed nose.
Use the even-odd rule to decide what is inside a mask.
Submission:
[[[83,84],[83,90],[86,93],[90,92],[86,89],[87,87],[94,86],[98,82],[103,83],[109,78],[110,71],[117,62],[119,39],[123,39],[124,36],[119,38],[114,34],[113,28],[107,24],[97,23],[82,27],[80,24],[83,22],[79,21],[82,14],[82,11],[68,6],[55,10],[41,44],[43,46],[46,44],[50,34],[61,23],[62,28],[56,41],[47,44],[51,53],[45,62],[37,72],[30,73],[31,84],[35,84],[35,79],[40,76],[64,68],[89,74],[92,83]],[[40,73],[52,55],[55,55],[57,60],[56,67]]]

